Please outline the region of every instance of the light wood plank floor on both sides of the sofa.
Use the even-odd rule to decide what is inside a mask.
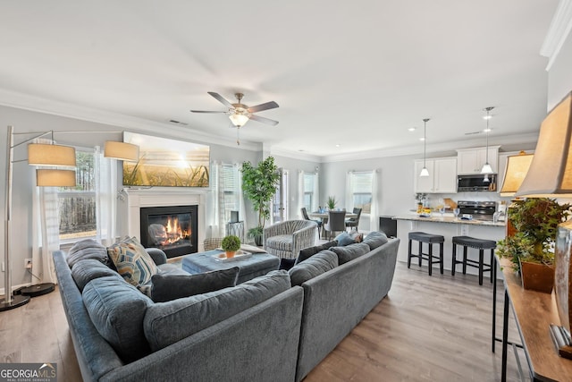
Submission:
[[[497,294],[501,335],[502,284]],[[491,352],[492,284],[475,276],[427,275],[398,263],[389,295],[305,379],[499,381],[501,344]],[[514,321],[510,340],[518,341]],[[59,292],[0,312],[0,362],[57,362],[58,381],[80,381]],[[524,357],[521,356],[521,361]],[[525,362],[526,363],[526,362]],[[517,381],[509,352],[509,381]]]

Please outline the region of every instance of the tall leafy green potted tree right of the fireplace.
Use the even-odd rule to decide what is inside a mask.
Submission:
[[[258,225],[248,230],[248,237],[254,239],[258,246],[262,245],[265,222],[270,218],[270,201],[276,193],[276,186],[280,179],[278,167],[274,165],[274,158],[267,157],[258,165],[252,166],[250,162],[242,164],[242,191],[252,201],[258,214]]]

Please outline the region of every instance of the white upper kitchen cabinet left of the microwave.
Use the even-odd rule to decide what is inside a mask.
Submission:
[[[416,193],[457,193],[457,158],[438,157],[425,161],[429,176],[419,176],[424,161],[415,161]]]

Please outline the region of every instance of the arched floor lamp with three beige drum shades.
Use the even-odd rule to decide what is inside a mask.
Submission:
[[[52,144],[29,144],[28,163],[30,166],[75,167],[75,149],[69,146],[54,144],[54,132],[29,132],[34,137],[20,143],[13,142],[13,126],[8,126],[8,146],[6,149],[6,182],[5,182],[5,216],[4,216],[4,299],[0,300],[0,311],[11,310],[25,305],[30,297],[54,291],[55,284],[41,283],[21,289],[21,294],[12,291],[11,253],[11,220],[12,220],[12,188],[13,188],[13,149],[31,140],[52,134]],[[130,143],[106,141],[105,157],[122,160],[139,160],[139,147]],[[61,168],[38,168],[36,183],[39,187],[72,187],[75,186],[75,170]]]

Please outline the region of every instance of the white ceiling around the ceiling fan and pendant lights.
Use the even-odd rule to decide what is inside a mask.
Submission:
[[[0,3],[0,104],[233,140],[206,92],[254,106],[244,142],[315,156],[537,134],[557,0]],[[98,115],[96,117],[96,115]],[[416,127],[416,132],[408,128]],[[340,147],[336,147],[340,145]],[[436,147],[436,146],[435,146]]]

